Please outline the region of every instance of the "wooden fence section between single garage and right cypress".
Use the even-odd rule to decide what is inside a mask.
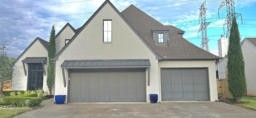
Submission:
[[[231,96],[228,90],[228,79],[217,79],[217,89],[218,94],[222,94],[224,96]]]

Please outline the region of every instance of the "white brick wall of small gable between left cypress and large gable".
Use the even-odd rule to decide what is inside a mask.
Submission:
[[[67,26],[61,33],[56,37],[56,54],[65,46],[65,39],[71,39],[75,35],[74,31]]]

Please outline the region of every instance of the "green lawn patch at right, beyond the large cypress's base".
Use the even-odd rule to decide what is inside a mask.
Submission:
[[[256,98],[253,98],[252,96],[244,96],[242,98],[242,102],[249,102],[249,103],[235,104],[235,105],[242,108],[247,108],[247,109],[256,111]]]

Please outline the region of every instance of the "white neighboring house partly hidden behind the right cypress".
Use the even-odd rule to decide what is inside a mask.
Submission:
[[[256,38],[245,38],[241,42],[242,53],[244,56],[244,67],[245,67],[245,77],[247,85],[247,95],[256,96]],[[224,57],[216,64],[216,69],[218,70],[219,79],[226,79],[227,72],[227,57]]]

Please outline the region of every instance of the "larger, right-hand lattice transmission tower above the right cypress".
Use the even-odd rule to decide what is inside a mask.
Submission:
[[[227,16],[226,16],[226,20],[224,22],[224,26],[227,25],[226,38],[229,38],[229,36],[230,36],[230,28],[231,28],[231,25],[232,25],[233,18],[237,19],[241,14],[238,14],[238,13],[235,12],[234,0],[222,0],[222,2],[220,4],[220,7],[218,9],[218,14],[219,14],[220,8],[222,8],[225,5],[226,5],[226,8],[227,8]],[[219,18],[220,18],[220,14],[219,14]],[[241,16],[241,20],[242,20],[242,16]],[[243,24],[243,22],[242,22],[242,24]],[[224,31],[224,34],[225,34],[225,31]]]

